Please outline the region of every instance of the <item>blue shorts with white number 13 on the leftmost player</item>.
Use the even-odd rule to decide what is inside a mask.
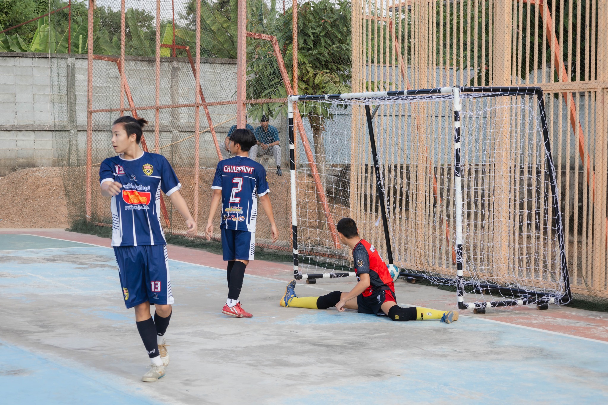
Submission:
[[[114,256],[127,308],[173,304],[167,245],[115,246]]]

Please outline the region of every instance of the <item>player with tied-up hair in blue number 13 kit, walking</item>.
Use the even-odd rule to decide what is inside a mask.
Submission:
[[[119,267],[126,308],[135,308],[137,330],[152,365],[142,377],[151,383],[165,375],[169,355],[165,332],[171,319],[171,279],[167,242],[161,227],[161,190],[184,217],[188,235],[196,234],[181,184],[163,155],[139,148],[143,118],[120,117],[112,125],[112,146],[118,154],[102,162],[102,195],[112,197],[112,246]],[[150,304],[156,305],[154,319]]]

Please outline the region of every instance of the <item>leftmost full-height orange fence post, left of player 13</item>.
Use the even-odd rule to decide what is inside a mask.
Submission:
[[[93,140],[93,7],[94,0],[89,0],[89,19],[86,50],[86,183],[85,208],[86,217],[91,220],[91,170]]]

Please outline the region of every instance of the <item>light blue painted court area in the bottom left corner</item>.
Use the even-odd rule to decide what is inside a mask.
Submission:
[[[157,403],[137,395],[136,389],[121,389],[102,375],[97,370],[62,366],[0,341],[0,392],[7,404]]]

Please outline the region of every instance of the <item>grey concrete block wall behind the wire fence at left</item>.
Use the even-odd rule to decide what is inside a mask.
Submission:
[[[57,166],[67,159],[69,145],[77,153],[72,156],[78,165],[86,160],[86,55],[48,55],[38,53],[0,52],[0,176],[16,169],[34,166]],[[154,58],[128,57],[126,75],[136,106],[154,105]],[[201,86],[206,101],[235,100],[236,60],[201,59]],[[120,80],[115,63],[94,61],[94,108],[120,105]],[[161,58],[161,104],[193,103],[195,80],[186,58]],[[68,100],[70,105],[68,106]],[[125,98],[125,106],[128,101]],[[214,124],[236,115],[236,106],[210,106]],[[126,110],[125,114],[130,114]],[[94,162],[113,153],[105,145],[109,125],[118,112],[94,114]],[[154,146],[154,110],[142,110],[139,115],[151,122],[145,136]],[[193,108],[161,110],[161,142],[168,145],[192,135]],[[201,109],[201,130],[207,119]],[[215,126],[218,140],[223,143],[230,126],[228,121]],[[251,123],[257,126],[258,123]],[[286,120],[277,118],[271,124],[281,134],[283,160],[287,161]],[[182,164],[192,165],[193,139],[174,147],[171,154]],[[72,161],[72,164],[76,162]],[[201,134],[199,165],[214,166],[217,154],[209,132]]]

